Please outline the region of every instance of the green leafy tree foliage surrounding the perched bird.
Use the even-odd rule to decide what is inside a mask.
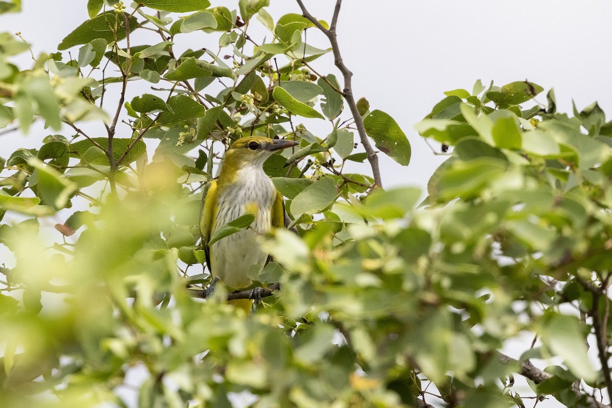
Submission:
[[[416,125],[451,150],[427,198],[383,190],[378,157],[408,165],[411,147],[353,98],[340,1],[329,23],[267,6],[89,0],[27,68],[29,45],[0,34],[0,136],[46,135],[0,152],[2,406],[603,406],[612,122],[597,103],[558,113],[529,81],[445,92]],[[218,48],[179,53],[193,32]],[[340,75],[321,75],[326,53]],[[272,295],[245,316],[222,284],[206,296],[197,226],[223,150],[251,134],[300,143],[264,165],[298,234],[261,237],[274,262],[253,278]],[[520,359],[501,354],[526,333]]]

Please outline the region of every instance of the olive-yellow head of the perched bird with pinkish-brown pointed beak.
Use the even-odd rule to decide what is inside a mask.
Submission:
[[[261,168],[277,150],[296,146],[296,141],[285,139],[270,139],[263,136],[249,136],[235,141],[225,153],[220,178],[233,179],[239,169],[255,166]]]

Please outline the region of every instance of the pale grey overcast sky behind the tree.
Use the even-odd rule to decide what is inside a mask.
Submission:
[[[230,8],[237,4],[211,1]],[[330,20],[333,1],[304,2],[317,18]],[[293,0],[271,0],[267,10],[276,21],[285,13],[299,12],[299,7]],[[433,155],[412,127],[444,97],[442,92],[460,87],[471,91],[477,79],[485,84],[493,80],[498,86],[527,79],[545,92],[554,87],[564,111],[571,111],[572,98],[579,110],[595,100],[604,111],[612,109],[607,49],[611,16],[612,2],[604,0],[345,0],[338,38],[354,73],[353,92],[357,98],[367,97],[372,109],[394,117],[412,144],[408,167],[381,160],[383,182],[425,186],[444,157]],[[35,53],[53,52],[86,18],[85,0],[23,0],[22,13],[0,15],[0,32],[20,31]],[[254,38],[261,41],[265,32],[258,32],[261,37]],[[308,35],[321,39],[314,32]],[[207,41],[203,34],[193,37]],[[323,42],[316,45],[327,47]],[[329,57],[315,66],[323,74],[340,77]],[[539,102],[546,102],[545,92]],[[6,156],[10,147],[34,147],[43,136],[31,132],[25,142],[17,133],[0,136],[0,155]]]

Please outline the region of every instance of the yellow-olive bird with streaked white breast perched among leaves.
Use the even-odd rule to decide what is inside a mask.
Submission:
[[[248,136],[237,139],[227,150],[219,176],[211,180],[203,193],[200,218],[202,247],[213,278],[234,289],[244,289],[253,281],[249,269],[263,269],[269,254],[258,245],[257,238],[272,228],[285,225],[283,197],[264,172],[263,164],[274,152],[296,146],[296,141]],[[241,231],[209,244],[211,237],[230,221],[245,213],[255,220]],[[247,314],[253,300],[230,301]]]

